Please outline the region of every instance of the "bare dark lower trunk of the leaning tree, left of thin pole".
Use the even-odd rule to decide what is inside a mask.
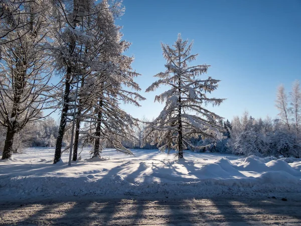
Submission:
[[[67,124],[67,113],[69,109],[70,74],[71,74],[71,68],[68,67],[66,83],[65,83],[64,104],[63,104],[60,127],[58,131],[58,137],[57,137],[56,147],[55,147],[54,162],[53,162],[54,164],[60,161],[62,155],[62,143],[63,143],[64,133]]]

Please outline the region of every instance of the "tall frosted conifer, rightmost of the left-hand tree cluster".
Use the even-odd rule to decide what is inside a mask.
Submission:
[[[118,2],[109,6],[107,1],[94,7],[94,13],[90,14],[90,27],[85,30],[89,30],[92,44],[88,54],[84,53],[85,56],[93,56],[90,59],[93,70],[85,77],[84,85],[81,79],[74,161],[77,159],[78,143],[85,140],[94,141],[93,157],[100,155],[104,144],[131,154],[122,141],[134,139],[132,127],[137,126],[138,121],[123,111],[120,103],[139,106],[137,101],[144,99],[138,93],[128,90],[140,88],[133,80],[139,75],[131,70],[133,58],[124,55],[130,43],[121,40],[121,27],[115,25],[115,19],[122,15],[124,9]],[[87,127],[80,129],[80,122],[86,123]]]

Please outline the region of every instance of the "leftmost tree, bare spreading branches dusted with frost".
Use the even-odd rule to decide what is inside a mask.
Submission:
[[[18,21],[22,30],[11,30],[6,34],[9,41],[0,45],[0,124],[7,128],[3,159],[12,155],[16,133],[43,118],[42,110],[49,99],[46,10],[43,1],[22,2],[10,14],[10,20]],[[10,26],[14,25],[5,27]]]

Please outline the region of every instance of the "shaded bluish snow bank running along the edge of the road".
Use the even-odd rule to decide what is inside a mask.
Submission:
[[[217,164],[204,167],[217,169]],[[212,175],[212,174],[211,174]],[[220,176],[220,174],[218,174]],[[77,195],[195,195],[216,197],[224,195],[260,196],[257,192],[301,192],[301,182],[286,172],[266,172],[257,178],[217,179],[208,178],[197,182],[153,182],[133,184],[122,175],[97,178],[87,175],[77,178],[69,177],[13,177],[2,178],[1,196],[16,198],[60,197]]]

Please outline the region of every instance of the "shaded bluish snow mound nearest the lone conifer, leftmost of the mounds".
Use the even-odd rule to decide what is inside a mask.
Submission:
[[[220,165],[211,163],[204,165],[201,169],[195,170],[189,174],[196,175],[198,177],[209,177],[209,178],[229,178],[230,173],[225,171]]]

